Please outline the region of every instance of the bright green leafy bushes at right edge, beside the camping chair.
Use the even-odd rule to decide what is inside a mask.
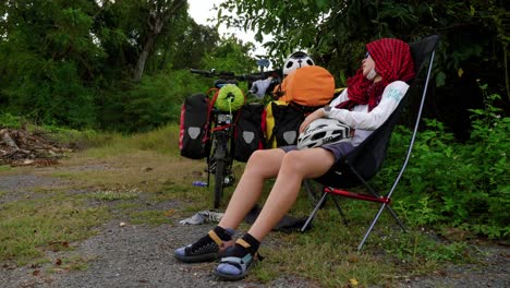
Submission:
[[[497,94],[481,86],[485,108],[472,110],[471,139],[458,143],[442,123],[426,120],[400,183],[398,209],[414,226],[447,224],[490,238],[510,235],[510,118],[494,107]],[[376,183],[400,169],[411,132],[400,128]]]

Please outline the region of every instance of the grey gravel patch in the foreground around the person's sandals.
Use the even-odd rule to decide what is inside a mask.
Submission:
[[[269,284],[248,280],[217,281],[215,263],[183,264],[174,260],[173,249],[206,233],[211,226],[120,227],[104,226],[102,232],[76,244],[72,254],[89,260],[82,272],[35,273],[54,266],[62,253],[48,254],[52,263],[37,267],[0,269],[1,287],[318,287],[313,281],[281,277]]]

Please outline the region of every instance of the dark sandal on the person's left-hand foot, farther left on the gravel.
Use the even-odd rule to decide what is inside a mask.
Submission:
[[[193,245],[197,245],[201,242],[202,245],[195,247],[192,250]],[[222,241],[214,230],[210,230],[208,236],[201,238],[195,244],[175,249],[173,255],[177,260],[185,263],[215,261],[223,256],[227,248],[232,247],[233,243],[233,240]]]

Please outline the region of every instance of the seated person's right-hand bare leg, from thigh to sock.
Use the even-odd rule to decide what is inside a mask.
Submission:
[[[332,153],[323,148],[287,153],[275,185],[248,233],[262,241],[294,204],[303,179],[323,176],[333,164]]]

